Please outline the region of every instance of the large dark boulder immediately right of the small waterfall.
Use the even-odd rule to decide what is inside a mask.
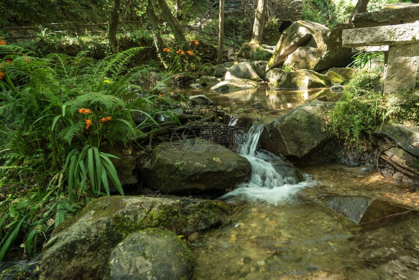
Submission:
[[[268,123],[259,140],[261,148],[284,155],[292,163],[304,160],[333,138],[324,121],[330,107],[325,102],[312,101]]]

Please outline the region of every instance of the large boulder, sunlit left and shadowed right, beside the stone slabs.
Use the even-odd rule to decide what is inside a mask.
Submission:
[[[314,71],[348,65],[352,51],[342,47],[342,31],[350,28],[351,25],[341,23],[317,32],[305,46],[291,53],[284,65]]]

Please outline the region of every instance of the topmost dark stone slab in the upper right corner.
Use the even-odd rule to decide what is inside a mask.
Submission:
[[[409,23],[419,20],[419,5],[355,14],[355,28]]]

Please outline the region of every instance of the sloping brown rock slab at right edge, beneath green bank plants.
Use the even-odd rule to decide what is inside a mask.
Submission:
[[[373,134],[395,141],[403,150],[419,158],[418,128],[402,124],[390,124],[376,127]]]

